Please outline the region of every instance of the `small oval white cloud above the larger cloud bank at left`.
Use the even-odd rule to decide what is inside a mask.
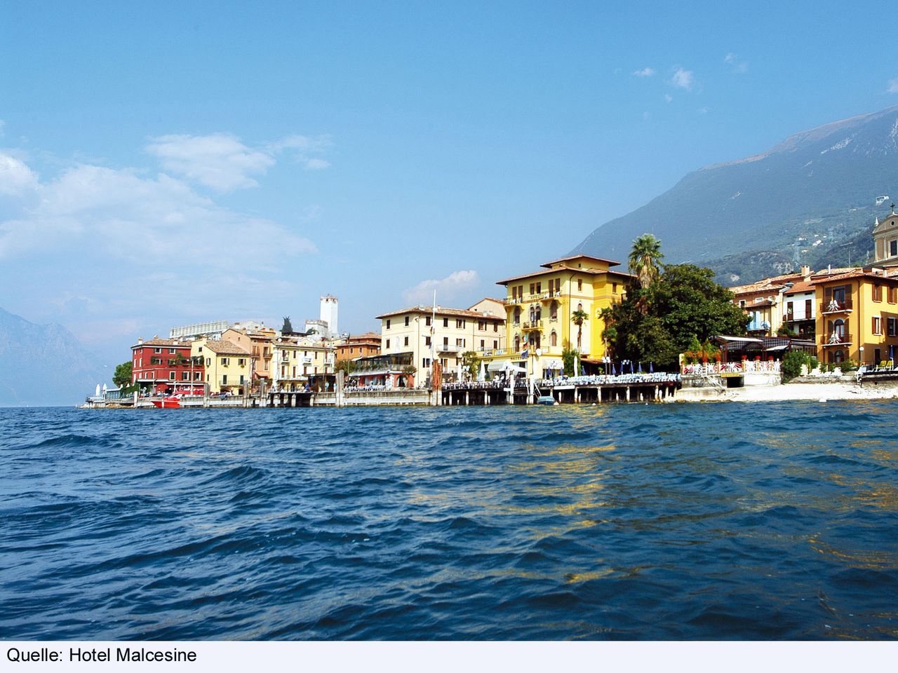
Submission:
[[[162,135],[151,138],[146,151],[163,169],[219,192],[258,186],[250,176],[263,174],[275,162],[230,134]]]

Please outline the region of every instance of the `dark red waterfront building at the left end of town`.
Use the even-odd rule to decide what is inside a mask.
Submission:
[[[131,346],[131,382],[159,395],[203,392],[202,360],[190,360],[190,342],[153,337]]]

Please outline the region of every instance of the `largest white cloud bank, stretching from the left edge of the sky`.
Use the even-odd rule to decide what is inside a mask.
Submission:
[[[0,154],[0,193],[31,197],[0,221],[0,258],[66,254],[73,267],[96,264],[172,268],[214,274],[277,267],[314,252],[312,241],[278,223],[233,212],[164,173],[78,164],[41,182],[22,162]],[[273,245],[277,241],[277,245]],[[237,251],[239,250],[239,252]]]

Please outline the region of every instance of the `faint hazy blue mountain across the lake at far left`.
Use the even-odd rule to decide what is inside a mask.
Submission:
[[[103,382],[71,332],[0,309],[0,406],[75,405]]]

